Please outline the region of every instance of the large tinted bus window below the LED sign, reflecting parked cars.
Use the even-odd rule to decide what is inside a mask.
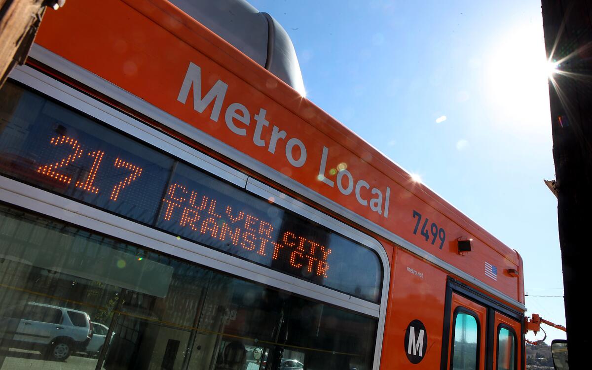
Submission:
[[[28,304],[29,317],[55,322],[61,313],[52,307],[65,307],[73,321],[84,316],[73,310],[82,311],[115,333],[100,366],[76,357],[59,362],[63,369],[259,369],[264,362],[279,369],[288,360],[310,370],[372,369],[374,317],[1,204],[0,239],[0,308],[35,301],[47,306]],[[15,349],[3,368],[44,368],[44,361]]]

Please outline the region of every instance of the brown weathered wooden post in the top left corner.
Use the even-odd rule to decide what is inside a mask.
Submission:
[[[47,6],[57,9],[66,0],[0,0],[0,87],[27,54]]]

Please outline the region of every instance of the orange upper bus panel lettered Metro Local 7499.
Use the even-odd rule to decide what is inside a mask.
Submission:
[[[168,2],[70,4],[49,12],[37,43],[523,302],[507,273],[521,269],[515,251]],[[259,134],[256,115],[269,122]],[[458,238],[472,252],[459,255]]]

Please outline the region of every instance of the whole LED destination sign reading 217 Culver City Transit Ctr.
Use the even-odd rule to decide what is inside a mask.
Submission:
[[[12,83],[0,115],[7,176],[378,301],[382,268],[365,246]]]

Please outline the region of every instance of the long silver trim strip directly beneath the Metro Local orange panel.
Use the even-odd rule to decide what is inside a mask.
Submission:
[[[95,74],[92,74],[91,72],[88,72],[87,70],[77,66],[76,64],[73,64],[72,62],[63,59],[57,54],[52,53],[52,51],[49,51],[46,48],[34,44],[33,48],[31,49],[30,56],[34,59],[37,59],[38,61],[41,61],[41,63],[44,63],[47,66],[50,66],[53,69],[56,69],[59,72],[62,72],[69,77],[72,77],[75,80],[78,80],[84,85],[89,86],[92,89],[95,89],[96,91],[109,96],[112,99],[124,103],[131,109],[134,109],[142,113],[143,115],[146,115],[154,119],[155,121],[168,126],[176,132],[179,132],[179,134],[194,139],[195,141],[200,142],[200,144],[205,145],[206,147],[211,148],[214,151],[223,153],[226,157],[230,158],[231,160],[234,160],[247,168],[251,168],[253,171],[262,174],[262,176],[265,176],[270,180],[275,181],[276,183],[286,187],[287,189],[291,189],[298,194],[302,194],[304,197],[307,197],[312,202],[318,203],[319,205],[326,207],[332,212],[335,212],[339,215],[342,215],[345,218],[352,220],[352,222],[357,223],[362,228],[377,233],[377,235],[380,235],[385,239],[388,239],[391,242],[394,242],[395,244],[401,246],[401,248],[407,249],[413,254],[416,254],[419,257],[422,257],[427,261],[432,262],[432,264],[435,264],[436,266],[451,272],[451,274],[454,274],[462,280],[468,281],[469,283],[477,286],[478,288],[481,288],[487,293],[490,293],[493,296],[496,296],[501,300],[506,301],[506,303],[526,311],[526,306],[524,304],[520,303],[514,298],[507,296],[507,294],[504,294],[501,291],[490,287],[489,285],[483,283],[477,278],[472,277],[471,275],[467,274],[462,270],[459,270],[459,268],[456,268],[448,262],[436,257],[435,255],[432,255],[429,252],[424,251],[423,249],[419,248],[413,243],[410,243],[405,239],[401,238],[400,236],[395,235],[391,231],[382,228],[382,226],[379,226],[374,222],[362,218],[361,216],[350,211],[349,209],[346,209],[345,207],[334,202],[333,200],[328,199],[327,197],[321,196],[320,194],[313,192],[312,190],[308,189],[307,187],[303,186],[297,181],[294,181],[291,178],[285,176],[284,174],[279,173],[278,171],[268,167],[267,165],[264,165],[259,161],[249,157],[248,155],[243,154],[240,151],[237,151],[229,145],[224,144],[224,142],[221,142],[218,139],[215,139],[210,135],[207,135],[204,132],[199,131],[198,129],[186,124],[185,122],[181,121],[175,116],[170,115],[169,113],[166,113],[159,108],[156,108],[150,103],[147,103],[145,100],[142,100],[137,96],[128,93],[126,90],[123,90],[120,87],[108,82],[107,80],[104,80],[101,77],[96,76]]]

